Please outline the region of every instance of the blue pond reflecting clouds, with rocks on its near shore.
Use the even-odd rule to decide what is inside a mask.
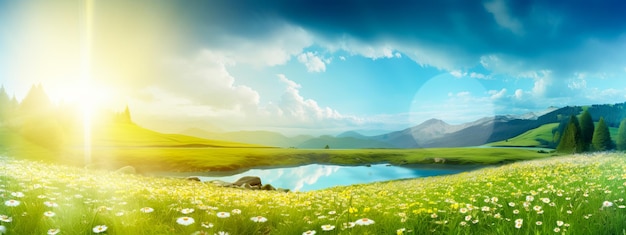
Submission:
[[[376,164],[371,166],[336,166],[311,164],[274,169],[251,169],[230,176],[198,176],[202,181],[222,180],[235,182],[243,176],[258,176],[262,183],[292,191],[310,191],[334,186],[364,184],[407,178],[456,174],[482,166],[459,165],[411,165],[410,167]]]

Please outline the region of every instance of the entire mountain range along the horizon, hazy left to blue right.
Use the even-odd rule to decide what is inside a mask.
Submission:
[[[626,113],[623,112],[626,103],[592,105],[586,108],[595,121],[604,116],[610,126],[616,127],[621,119],[626,118]],[[364,135],[359,131],[347,131],[336,136],[287,137],[271,131],[211,132],[198,128],[187,129],[181,134],[283,148],[320,149],[326,145],[336,149],[467,147],[505,141],[545,124],[560,123],[567,120],[570,115],[578,115],[582,110],[581,106],[550,107],[543,112],[498,115],[458,125],[451,125],[439,119],[429,119],[404,130],[373,136]]]

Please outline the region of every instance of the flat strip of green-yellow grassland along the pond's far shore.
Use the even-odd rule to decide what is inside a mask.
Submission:
[[[80,155],[81,150],[75,150]],[[536,150],[504,148],[307,150],[279,148],[102,148],[94,149],[94,164],[116,169],[131,165],[146,171],[231,171],[254,167],[334,165],[394,165],[433,163],[499,164],[548,157]]]

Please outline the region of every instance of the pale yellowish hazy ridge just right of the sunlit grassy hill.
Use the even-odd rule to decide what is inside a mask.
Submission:
[[[199,128],[190,128],[184,130],[181,134],[213,140],[259,144],[282,148],[296,147],[301,143],[314,138],[310,135],[287,137],[280,133],[271,131],[210,132]]]

